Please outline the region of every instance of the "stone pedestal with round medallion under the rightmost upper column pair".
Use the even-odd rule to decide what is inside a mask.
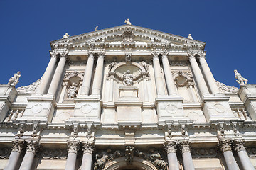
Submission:
[[[233,114],[230,105],[228,103],[229,97],[223,94],[203,95],[203,113],[206,116],[206,120],[220,120],[220,119],[238,119]]]

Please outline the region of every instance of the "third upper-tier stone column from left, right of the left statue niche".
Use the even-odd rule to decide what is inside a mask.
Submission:
[[[82,88],[81,95],[89,95],[90,84],[92,80],[92,72],[93,72],[93,62],[94,62],[94,54],[93,52],[88,52],[88,60],[85,68],[85,76],[82,80]]]

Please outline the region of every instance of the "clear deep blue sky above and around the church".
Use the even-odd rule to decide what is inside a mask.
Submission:
[[[256,84],[256,1],[7,1],[0,0],[0,84],[21,71],[18,86],[39,79],[50,60],[49,42],[124,24],[206,42],[215,79],[238,86],[233,70]]]

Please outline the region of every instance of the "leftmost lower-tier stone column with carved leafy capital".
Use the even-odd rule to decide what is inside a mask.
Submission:
[[[23,140],[13,140],[13,148],[11,150],[10,157],[6,164],[4,170],[14,170],[16,169],[18,158],[21,155],[21,150],[23,148],[24,141]]]

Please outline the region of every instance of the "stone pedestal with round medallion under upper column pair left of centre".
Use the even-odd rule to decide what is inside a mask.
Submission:
[[[74,98],[75,111],[69,120],[92,121],[100,123],[102,101],[99,96],[78,96]]]

